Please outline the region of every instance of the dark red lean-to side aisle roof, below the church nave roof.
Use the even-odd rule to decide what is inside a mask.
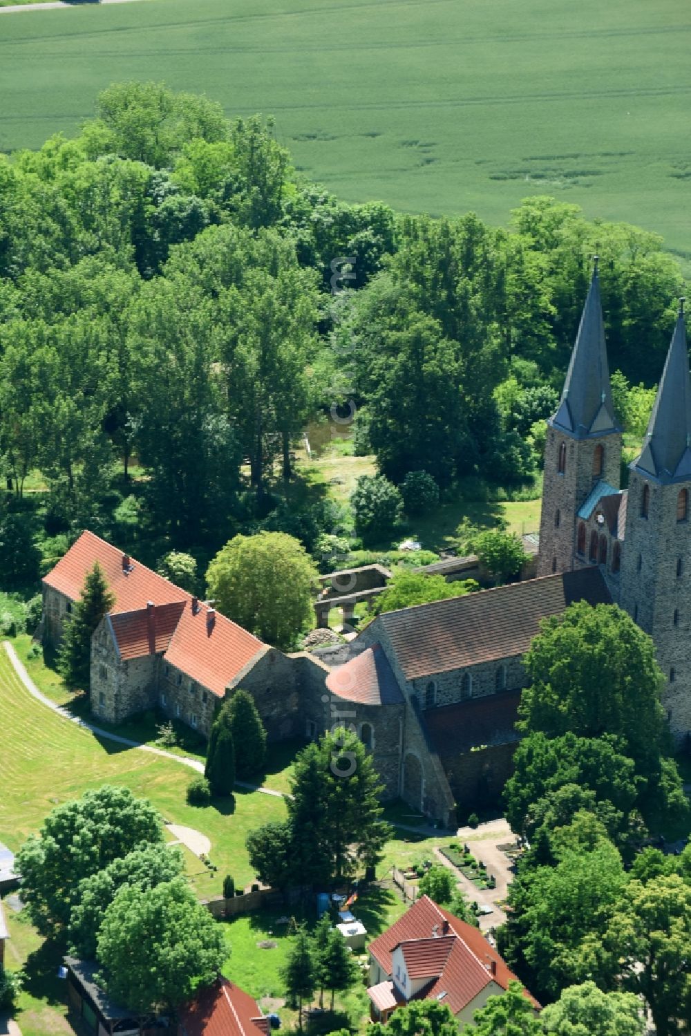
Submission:
[[[518,740],[516,719],[520,690],[497,691],[423,714],[432,744],[441,757],[459,755],[478,745],[506,745]]]

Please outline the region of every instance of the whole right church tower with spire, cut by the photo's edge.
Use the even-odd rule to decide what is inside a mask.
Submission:
[[[622,557],[623,608],[655,640],[663,704],[691,730],[691,381],[684,300],[640,456],[631,464]]]

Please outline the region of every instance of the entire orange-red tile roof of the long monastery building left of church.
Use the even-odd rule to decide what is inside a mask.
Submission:
[[[123,558],[128,562],[126,568]],[[93,533],[82,533],[44,582],[75,601],[94,562],[100,565],[115,595],[110,615],[122,659],[165,652],[171,665],[223,697],[228,684],[265,652],[261,640],[220,612],[209,611],[205,604],[199,603],[193,614],[194,599],[186,591]],[[148,625],[149,601],[154,605],[153,630]]]

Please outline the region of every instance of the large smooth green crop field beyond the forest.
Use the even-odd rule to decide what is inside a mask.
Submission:
[[[680,0],[145,0],[0,16],[0,148],[73,133],[113,80],[273,114],[342,197],[505,223],[530,194],[691,259]]]

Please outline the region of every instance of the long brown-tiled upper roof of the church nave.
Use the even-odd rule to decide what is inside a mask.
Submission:
[[[581,569],[387,611],[384,627],[406,680],[523,655],[540,620],[574,601],[611,604],[600,572]]]

